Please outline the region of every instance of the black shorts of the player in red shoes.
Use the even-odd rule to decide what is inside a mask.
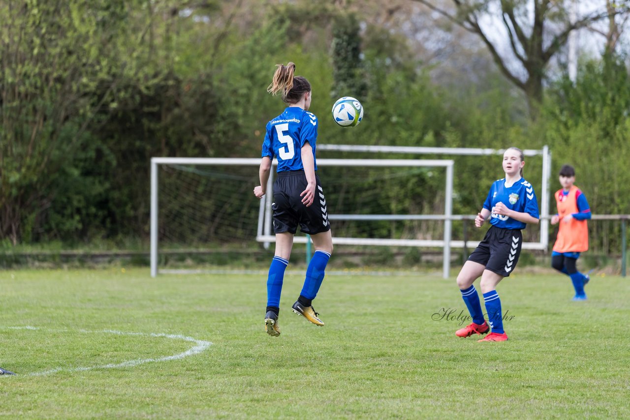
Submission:
[[[516,267],[522,245],[523,234],[520,230],[491,226],[468,261],[483,264],[486,270],[508,277]]]

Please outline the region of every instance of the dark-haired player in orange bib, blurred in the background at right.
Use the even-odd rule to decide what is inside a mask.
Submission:
[[[558,214],[551,217],[551,224],[558,226],[558,237],[551,253],[551,266],[568,275],[575,288],[573,300],[587,300],[584,286],[590,278],[580,273],[576,268],[576,261],[580,253],[588,249],[587,220],[591,218],[587,198],[580,188],[573,185],[575,169],[571,165],[564,165],[559,173],[562,188],[554,194]]]

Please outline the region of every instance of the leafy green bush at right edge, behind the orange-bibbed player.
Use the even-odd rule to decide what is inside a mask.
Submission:
[[[549,91],[545,108],[547,139],[554,150],[554,172],[563,163],[576,167],[593,211],[628,213],[630,205],[630,77],[619,57],[593,60]]]

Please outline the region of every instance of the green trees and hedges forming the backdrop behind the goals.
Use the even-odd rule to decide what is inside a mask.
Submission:
[[[320,143],[549,145],[553,173],[573,164],[593,212],[630,213],[625,57],[585,59],[575,84],[547,77],[532,120],[498,69],[444,71],[438,54],[392,30],[402,3],[0,0],[0,239],[146,241],[149,159],[260,156],[263,127],[284,106],[265,89],[289,60],[311,81]],[[342,95],[366,109],[352,130],[328,117]],[[499,162],[457,159],[454,211],[476,213]],[[539,183],[538,172],[527,178]],[[388,193],[439,213],[439,186],[419,174]]]

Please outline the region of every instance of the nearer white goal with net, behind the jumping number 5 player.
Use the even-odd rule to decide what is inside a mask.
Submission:
[[[268,260],[264,248],[275,241],[272,197],[253,195],[259,165],[260,159],[151,160],[153,276],[158,269],[247,268]],[[452,160],[318,159],[318,167],[336,245],[348,253],[434,247],[442,251],[448,275]],[[274,178],[275,167],[267,191]],[[307,241],[298,231],[295,244],[306,247]]]

